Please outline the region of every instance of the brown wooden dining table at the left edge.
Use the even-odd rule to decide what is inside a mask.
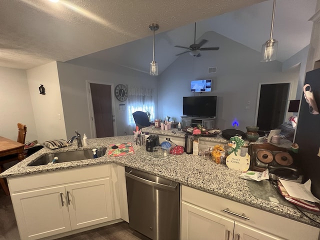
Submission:
[[[23,155],[23,147],[24,144],[17,142],[17,141],[13,141],[11,139],[5,138],[3,136],[0,136],[0,157],[1,156],[7,156],[7,155],[11,155],[11,154],[18,154],[18,160],[22,160],[24,158]],[[16,159],[16,158],[15,158]],[[14,158],[12,158],[12,160],[15,160]],[[5,159],[2,160],[0,159],[0,164],[1,163],[6,163],[9,162],[10,159]],[[0,173],[2,171],[2,168],[0,166]],[[0,178],[0,185],[2,186],[5,195],[9,195],[9,189],[4,181],[3,178]]]

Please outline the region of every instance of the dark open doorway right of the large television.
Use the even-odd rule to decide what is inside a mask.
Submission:
[[[261,131],[283,123],[290,83],[261,84],[256,125]]]

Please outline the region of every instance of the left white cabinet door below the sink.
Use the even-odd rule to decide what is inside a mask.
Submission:
[[[69,212],[61,204],[64,186],[11,195],[20,238],[38,239],[71,230]],[[65,201],[65,195],[62,196]]]

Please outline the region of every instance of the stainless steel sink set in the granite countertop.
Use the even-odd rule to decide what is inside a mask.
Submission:
[[[36,158],[34,161],[30,162],[28,166],[38,166],[38,165],[48,164],[49,162],[52,162],[55,156],[58,157],[58,159],[53,164],[56,164],[59,162],[91,159],[93,158],[92,149],[48,153],[43,156],[40,156],[39,158]],[[96,151],[96,154],[98,157],[103,156],[105,154],[106,147],[100,147],[97,149],[98,150]]]

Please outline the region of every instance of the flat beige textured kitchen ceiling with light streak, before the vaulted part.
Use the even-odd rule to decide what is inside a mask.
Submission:
[[[66,61],[262,0],[1,0],[0,66]],[[158,33],[157,32],[157,33]]]

